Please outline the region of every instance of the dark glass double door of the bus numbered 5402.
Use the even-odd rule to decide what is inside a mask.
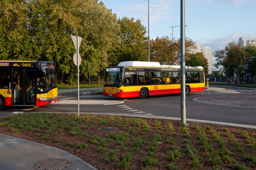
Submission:
[[[13,105],[35,106],[36,70],[13,70]]]

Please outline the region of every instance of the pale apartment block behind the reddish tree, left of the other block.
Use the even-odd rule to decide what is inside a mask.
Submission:
[[[202,52],[204,57],[208,62],[208,74],[212,74],[212,49],[202,47],[201,44],[196,44],[197,48],[193,49],[192,52],[196,54],[197,52]]]

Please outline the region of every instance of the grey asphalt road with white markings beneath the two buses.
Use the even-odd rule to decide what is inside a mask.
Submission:
[[[90,92],[101,91],[101,89],[91,88]],[[180,94],[153,96],[146,99],[120,99],[98,95],[89,96],[88,92],[89,89],[80,89],[80,113],[117,113],[181,117]],[[0,116],[17,114],[17,112],[77,112],[77,96],[77,89],[59,90],[59,99],[55,104],[32,108],[7,108],[4,111],[0,111]],[[254,89],[236,87],[218,86],[218,88],[214,88],[214,86],[210,86],[205,91],[190,93],[186,96],[186,118],[256,126],[256,109],[252,109],[252,107],[224,106],[229,98],[231,100],[234,100],[234,98],[239,100],[240,98],[245,99],[246,96],[248,98],[255,97],[256,91]],[[202,103],[197,100],[201,97],[207,97],[209,102]],[[223,97],[225,97],[223,103],[216,104],[219,102],[218,99],[222,99]],[[211,104],[211,102],[214,104]],[[256,108],[255,103],[252,103],[252,105]]]

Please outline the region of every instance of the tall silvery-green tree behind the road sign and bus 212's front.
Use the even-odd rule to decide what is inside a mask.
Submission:
[[[83,14],[80,35],[84,38],[81,43],[81,74],[85,77],[89,74],[89,64],[91,64],[92,76],[97,76],[99,84],[101,70],[108,66],[108,51],[113,44],[118,42],[117,16],[112,14],[102,2],[91,2],[91,7],[87,13]]]

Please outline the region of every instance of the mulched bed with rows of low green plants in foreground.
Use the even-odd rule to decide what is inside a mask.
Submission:
[[[119,131],[98,131],[113,125]],[[88,113],[17,114],[0,118],[0,127],[3,134],[27,136],[82,158],[97,155],[110,169],[255,169],[256,165],[256,135],[251,130]],[[237,157],[241,154],[247,156]]]

